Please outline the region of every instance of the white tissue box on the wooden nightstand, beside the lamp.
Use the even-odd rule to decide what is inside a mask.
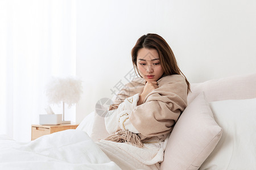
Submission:
[[[59,125],[62,122],[62,114],[39,114],[40,125]]]

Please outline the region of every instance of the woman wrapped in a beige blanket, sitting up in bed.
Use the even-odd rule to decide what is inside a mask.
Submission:
[[[126,84],[110,105],[105,125],[112,135],[98,145],[122,169],[159,169],[170,132],[187,107],[189,82],[157,34],[141,36],[131,57],[141,78]]]

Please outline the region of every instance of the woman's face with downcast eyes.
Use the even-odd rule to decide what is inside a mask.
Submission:
[[[142,48],[137,54],[139,74],[148,81],[157,81],[164,73],[155,49]]]

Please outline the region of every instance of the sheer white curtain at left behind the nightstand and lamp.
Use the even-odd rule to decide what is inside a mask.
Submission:
[[[51,76],[75,75],[75,1],[0,1],[0,134],[30,141]]]

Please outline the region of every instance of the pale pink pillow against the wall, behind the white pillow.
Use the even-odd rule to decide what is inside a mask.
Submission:
[[[192,83],[188,104],[204,91],[207,101],[253,99],[256,97],[256,73]]]

